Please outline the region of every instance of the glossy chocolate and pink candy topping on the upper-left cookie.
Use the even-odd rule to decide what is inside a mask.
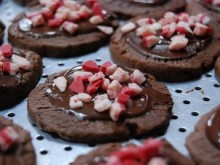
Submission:
[[[72,10],[71,8],[68,8],[67,6],[65,6],[65,4],[63,4],[56,10],[49,11],[49,12],[53,12],[54,14],[53,16],[51,16],[51,18],[45,18],[47,16],[45,16],[42,11],[43,10],[42,7],[45,7],[44,5],[42,5],[42,7],[40,5],[35,6],[29,9],[28,12],[29,14],[26,14],[26,16],[24,15],[22,19],[20,19],[18,28],[26,35],[32,36],[34,38],[50,38],[57,36],[71,37],[80,34],[98,32],[100,31],[97,28],[98,25],[107,26],[107,27],[114,26],[114,23],[112,23],[114,16],[108,13],[106,10],[103,10],[99,7],[101,14],[99,13],[99,15],[97,15],[93,13],[92,8],[90,8],[89,6],[86,7],[84,5],[78,4],[77,2],[75,2],[75,4],[77,10]],[[84,10],[84,12],[82,12],[82,10]],[[42,16],[41,19],[44,20],[42,23],[41,21],[36,23],[33,22],[34,17],[38,17],[38,16],[40,17]],[[101,18],[98,18],[99,20],[97,22],[95,20],[94,23],[93,21],[90,21],[91,17],[94,16],[100,16]],[[74,18],[69,18],[69,17],[74,17]],[[51,20],[54,21],[52,25],[49,23]],[[70,26],[75,26],[75,29],[73,31],[71,30],[71,32],[68,30],[64,30],[65,22],[71,24]]]

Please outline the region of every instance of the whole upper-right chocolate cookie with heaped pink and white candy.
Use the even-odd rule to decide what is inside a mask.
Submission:
[[[160,20],[144,16],[129,21],[111,38],[113,60],[162,81],[198,78],[214,66],[219,53],[218,26],[201,11],[196,2],[189,2],[187,13],[168,12]]]

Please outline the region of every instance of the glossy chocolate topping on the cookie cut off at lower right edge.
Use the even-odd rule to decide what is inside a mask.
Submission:
[[[205,131],[210,142],[220,149],[220,106],[210,115]]]

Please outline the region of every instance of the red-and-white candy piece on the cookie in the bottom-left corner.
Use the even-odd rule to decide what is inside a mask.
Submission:
[[[8,150],[19,139],[18,133],[14,128],[8,126],[0,131],[0,148],[2,151]]]

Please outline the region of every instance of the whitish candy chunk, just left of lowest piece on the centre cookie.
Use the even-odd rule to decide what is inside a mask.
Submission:
[[[112,102],[109,99],[104,100],[95,100],[94,109],[98,112],[103,112],[108,110],[112,105]]]

